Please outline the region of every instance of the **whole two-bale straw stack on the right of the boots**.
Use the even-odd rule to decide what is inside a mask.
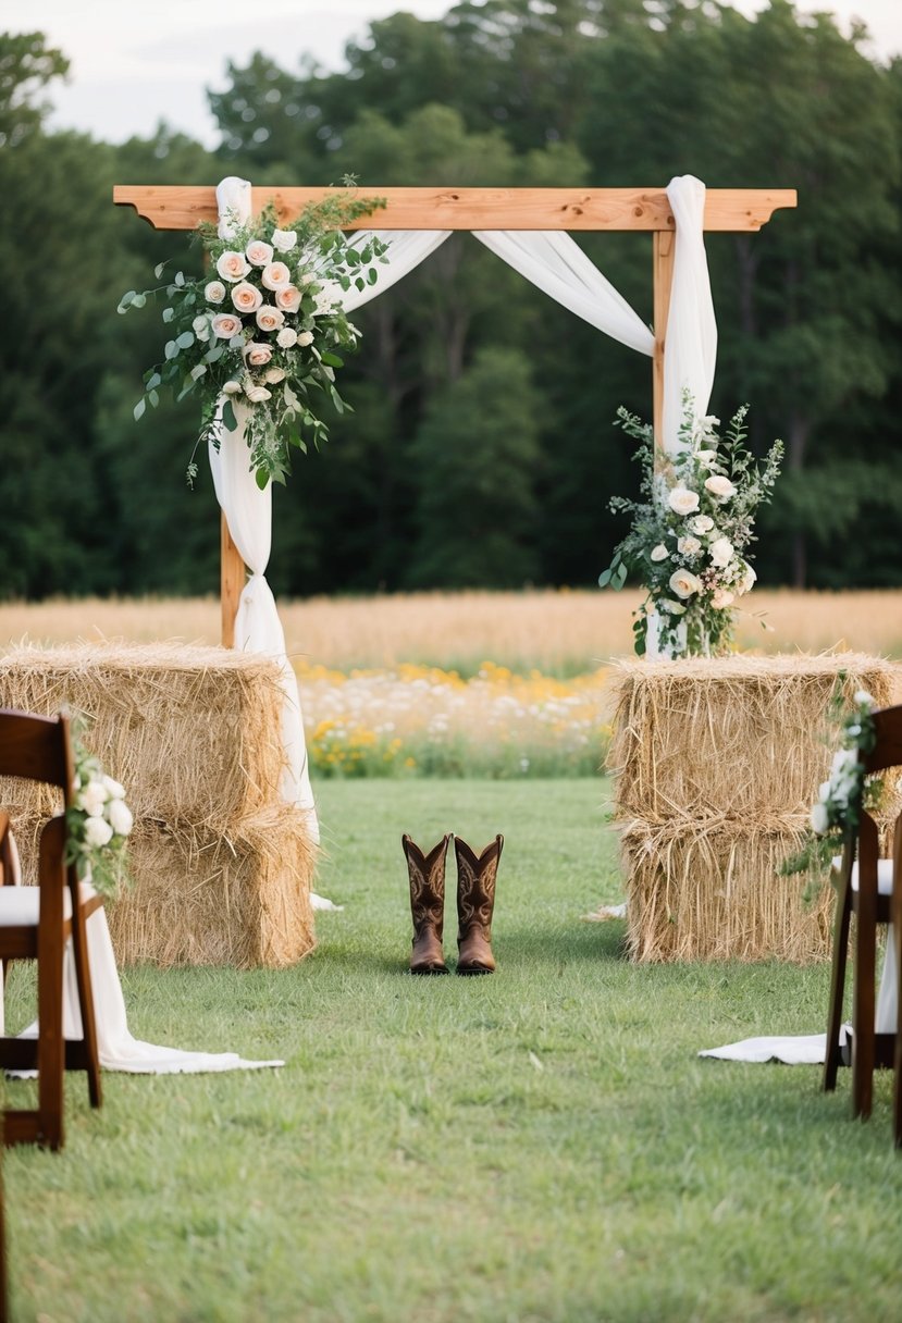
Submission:
[[[619,664],[614,744],[628,943],[637,960],[829,954],[833,892],[782,877],[832,749],[837,683],[894,699],[858,654]]]

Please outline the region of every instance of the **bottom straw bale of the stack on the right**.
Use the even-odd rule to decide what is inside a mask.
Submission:
[[[835,892],[805,898],[779,865],[804,820],[754,824],[631,822],[622,835],[627,939],[635,960],[825,959]]]

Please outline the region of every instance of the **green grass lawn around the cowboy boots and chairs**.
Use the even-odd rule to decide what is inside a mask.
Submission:
[[[700,1060],[820,1029],[828,971],[628,963],[581,922],[620,898],[603,795],[324,783],[309,959],[123,974],[138,1037],[284,1069],[107,1074],[94,1114],[70,1076],[63,1152],[4,1160],[13,1319],[898,1319],[889,1078],[862,1126],[845,1076]],[[406,974],[401,832],[448,830],[507,837],[493,978]]]

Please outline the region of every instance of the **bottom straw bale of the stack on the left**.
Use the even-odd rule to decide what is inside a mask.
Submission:
[[[25,884],[36,881],[41,826],[32,815],[13,820]],[[290,804],[227,836],[144,819],[130,837],[132,885],[106,902],[116,962],[294,964],[316,945],[315,864],[304,815]]]

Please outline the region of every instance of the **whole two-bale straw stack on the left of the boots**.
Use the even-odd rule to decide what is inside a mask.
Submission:
[[[280,795],[276,665],[179,644],[20,647],[0,659],[0,705],[87,717],[85,744],[135,815],[132,888],[107,904],[120,963],[284,966],[313,947],[316,847]],[[0,783],[25,881],[49,792]]]

